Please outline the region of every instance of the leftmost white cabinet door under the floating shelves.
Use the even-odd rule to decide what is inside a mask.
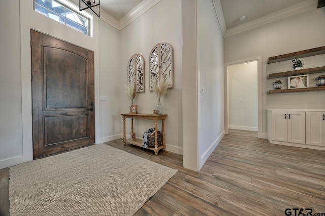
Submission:
[[[272,140],[287,142],[286,111],[272,111]]]

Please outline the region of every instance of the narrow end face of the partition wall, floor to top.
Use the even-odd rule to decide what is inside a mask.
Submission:
[[[197,1],[182,0],[183,166],[199,170]]]

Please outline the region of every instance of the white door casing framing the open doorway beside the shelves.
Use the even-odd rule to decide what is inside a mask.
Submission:
[[[257,61],[257,137],[267,138],[267,134],[263,134],[263,112],[262,112],[262,56],[254,56],[247,59],[237,60],[224,63],[224,132],[228,134],[229,128],[229,78],[228,66]]]

